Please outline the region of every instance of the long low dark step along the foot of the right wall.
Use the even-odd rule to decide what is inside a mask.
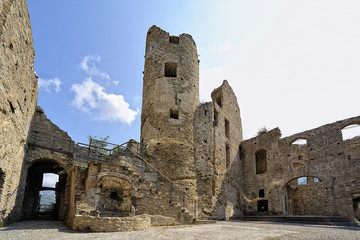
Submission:
[[[310,225],[357,226],[341,216],[242,216],[231,220],[299,223]]]

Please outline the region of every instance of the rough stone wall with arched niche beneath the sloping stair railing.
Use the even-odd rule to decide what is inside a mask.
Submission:
[[[171,190],[168,180],[137,157],[120,156],[112,163],[91,162],[88,168],[77,170],[76,175],[76,214],[97,212],[100,217],[153,214],[181,223],[193,220],[193,216],[188,211],[183,212],[179,205],[182,203],[179,188],[173,186]]]

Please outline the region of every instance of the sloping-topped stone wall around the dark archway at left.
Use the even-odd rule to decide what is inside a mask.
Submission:
[[[70,194],[70,172],[73,167],[74,142],[66,132],[53,124],[37,106],[31,122],[26,154],[16,200],[18,218],[36,217],[39,191],[44,173],[59,175],[56,186],[57,217],[67,217]]]

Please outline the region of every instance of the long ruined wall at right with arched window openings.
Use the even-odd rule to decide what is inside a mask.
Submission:
[[[360,192],[360,139],[343,140],[341,130],[360,117],[280,138],[274,129],[241,144],[243,189],[247,215],[340,215],[354,219],[352,199]],[[306,144],[293,144],[306,139]],[[256,153],[266,151],[267,170],[256,174]],[[305,177],[307,184],[297,179]],[[318,181],[317,181],[318,180]],[[263,190],[263,197],[260,196]],[[268,210],[258,211],[258,202]]]

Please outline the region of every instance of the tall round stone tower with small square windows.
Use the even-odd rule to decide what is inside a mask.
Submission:
[[[141,142],[161,171],[195,189],[194,113],[199,105],[199,62],[188,34],[170,36],[152,26],[146,38]],[[185,186],[184,186],[185,187]]]

